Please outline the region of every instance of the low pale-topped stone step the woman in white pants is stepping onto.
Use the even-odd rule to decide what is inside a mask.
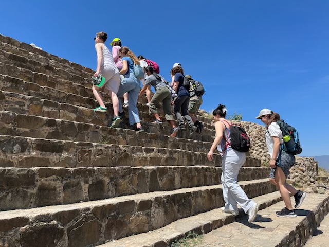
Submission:
[[[260,204],[260,210],[270,207],[271,205],[278,203],[282,200],[279,191],[268,193],[266,195],[258,196],[253,198],[253,200]],[[141,233],[115,241],[109,241],[105,244],[99,245],[99,247],[124,247],[124,246],[154,246],[154,247],[167,247],[171,246],[175,240],[184,238],[189,232],[194,232],[197,234],[208,234],[212,233],[217,228],[224,227],[225,225],[230,225],[234,221],[239,221],[241,218],[245,218],[245,214],[242,209],[239,210],[239,216],[233,216],[231,214],[224,213],[220,208],[215,208],[213,210],[207,211],[205,213],[200,213],[191,217],[176,220],[164,227],[159,229]],[[259,211],[261,213],[261,211]],[[260,214],[258,213],[258,215]],[[259,217],[259,216],[258,216]],[[240,228],[240,227],[239,227]],[[234,233],[236,230],[234,231]],[[223,237],[223,236],[218,236]],[[218,245],[215,246],[222,246]],[[189,245],[186,245],[189,246]],[[191,245],[194,246],[194,245]],[[207,246],[207,245],[197,245],[197,246]],[[223,245],[227,246],[227,245]],[[237,245],[228,246],[242,246],[241,243]],[[256,245],[258,246],[258,245]]]

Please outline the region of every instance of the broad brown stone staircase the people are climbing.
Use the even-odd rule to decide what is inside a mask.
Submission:
[[[104,95],[108,112],[92,111],[92,75],[0,35],[0,247],[170,246],[189,231],[207,236],[246,220],[242,211],[234,218],[218,209],[224,205],[222,159],[215,154],[207,160],[215,134],[209,119],[198,116],[202,135],[170,137],[166,121],[151,123],[141,98],[147,132],[136,133],[127,119],[108,128],[111,100]],[[268,173],[248,156],[239,175],[262,216],[282,206]],[[312,195],[314,205],[304,213],[308,223],[297,218],[305,232],[327,214],[328,199]],[[280,241],[278,246],[300,246]]]

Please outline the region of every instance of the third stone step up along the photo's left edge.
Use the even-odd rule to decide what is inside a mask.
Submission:
[[[139,133],[141,134],[141,133]],[[147,135],[145,135],[148,137]],[[168,147],[71,142],[0,135],[0,167],[114,167],[114,166],[221,166],[222,158],[207,152]],[[123,136],[120,135],[120,138]],[[145,138],[143,140],[148,140]],[[136,143],[136,137],[128,139]],[[119,140],[120,142],[120,140]],[[141,142],[137,142],[141,144]],[[152,142],[150,142],[152,145]],[[163,143],[162,143],[163,144]],[[170,143],[170,145],[175,145]],[[184,148],[184,146],[182,146]],[[260,167],[260,160],[246,157],[245,167]]]

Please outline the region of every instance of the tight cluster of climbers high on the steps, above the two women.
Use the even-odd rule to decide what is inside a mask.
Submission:
[[[138,97],[146,93],[149,112],[155,117],[153,123],[162,123],[157,112],[157,108],[162,103],[166,120],[171,127],[171,136],[176,136],[178,131],[185,129],[184,119],[188,123],[190,136],[194,132],[202,132],[203,123],[198,121],[195,116],[202,104],[202,95],[197,96],[194,93],[196,88],[196,85],[193,85],[194,80],[190,75],[184,75],[184,70],[179,63],[175,63],[171,69],[172,81],[170,83],[159,74],[160,70],[157,63],[141,55],[137,58],[128,47],[122,46],[119,38],[115,38],[111,42],[112,52],[104,44],[107,40],[105,32],[98,32],[94,40],[97,52],[97,69],[93,78],[99,77],[99,80],[102,80],[100,75],[103,77],[102,84],[93,83],[93,93],[99,103],[94,111],[107,111],[100,92],[101,89],[104,89],[111,97],[113,104],[114,118],[109,125],[110,127],[118,128],[121,118],[125,115],[122,108],[128,108],[130,125],[135,126],[137,132],[143,132],[137,101]],[[139,75],[139,70],[142,71],[142,76]],[[140,89],[140,81],[142,81],[142,89]],[[184,85],[184,81],[191,84],[191,89]],[[155,90],[153,96],[151,85]],[[118,97],[123,97],[123,104]],[[173,112],[171,105],[174,105]],[[177,118],[178,126],[175,125],[173,114]]]

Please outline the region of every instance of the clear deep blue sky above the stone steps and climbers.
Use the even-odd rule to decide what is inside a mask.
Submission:
[[[120,3],[120,4],[119,4]],[[3,1],[0,33],[96,68],[96,32],[156,61],[179,62],[243,120],[269,108],[300,134],[302,156],[329,154],[329,1]]]

